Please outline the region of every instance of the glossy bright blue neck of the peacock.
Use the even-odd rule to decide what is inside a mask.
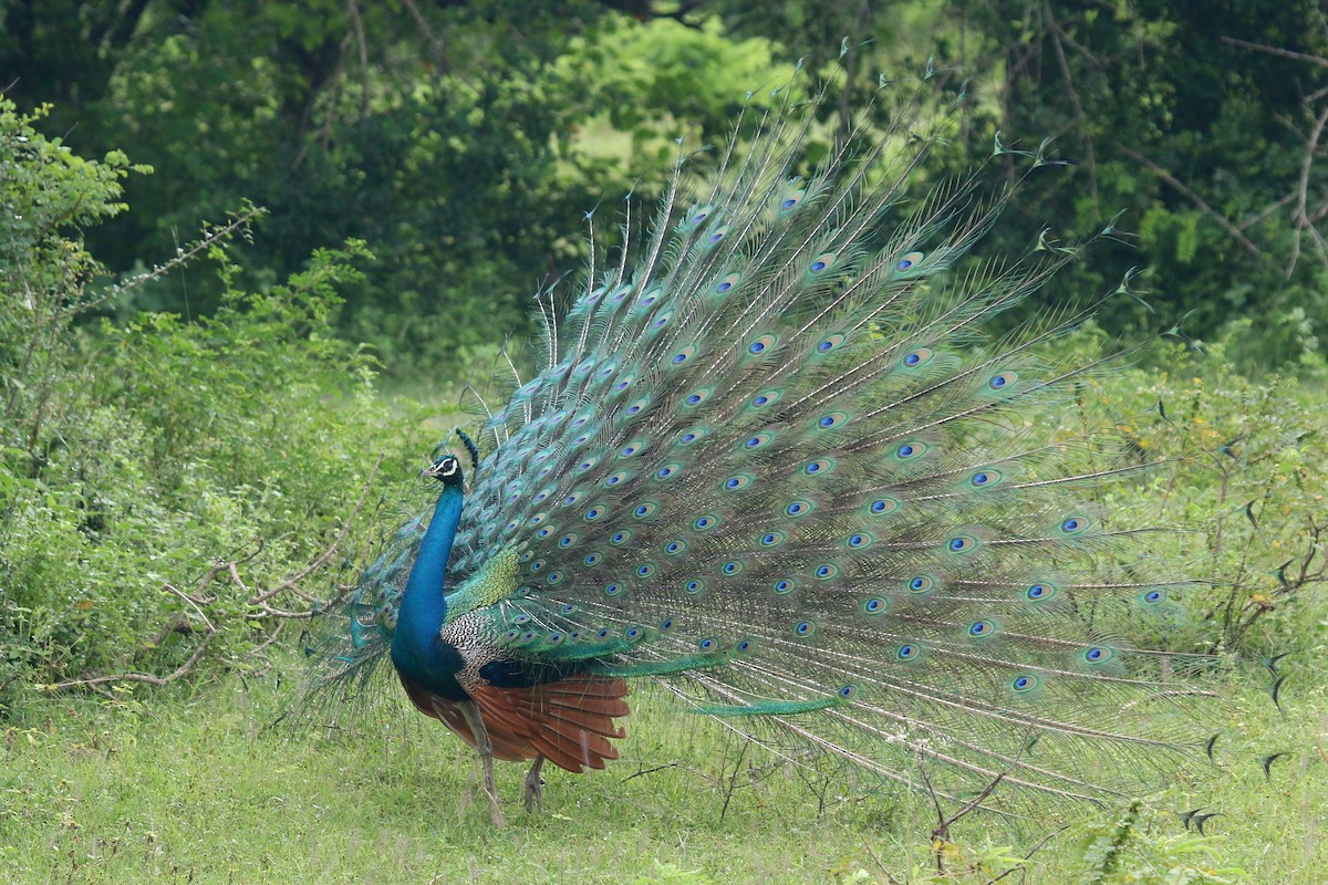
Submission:
[[[461,503],[459,486],[444,487],[406,580],[401,609],[397,612],[397,629],[392,636],[392,661],[397,669],[404,675],[426,683],[432,681],[430,677],[456,671],[452,661],[456,650],[441,647],[438,630],[448,614],[444,588],[448,582],[452,541],[457,537],[457,524],[461,521]]]

